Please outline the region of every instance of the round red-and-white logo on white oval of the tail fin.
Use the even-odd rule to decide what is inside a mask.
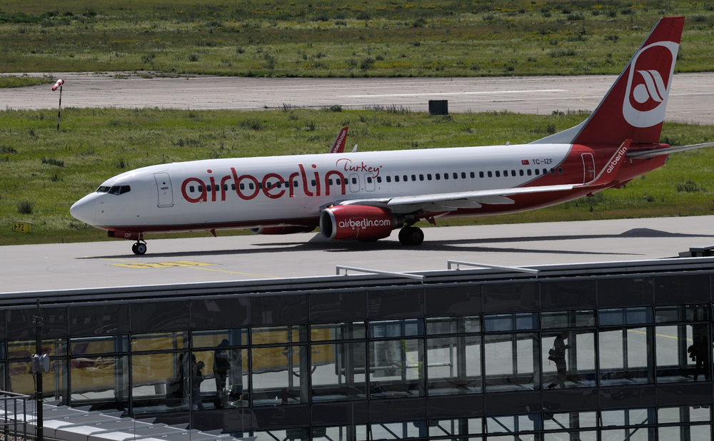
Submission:
[[[633,57],[623,100],[623,116],[631,126],[645,128],[664,121],[678,49],[673,41],[658,41]]]

